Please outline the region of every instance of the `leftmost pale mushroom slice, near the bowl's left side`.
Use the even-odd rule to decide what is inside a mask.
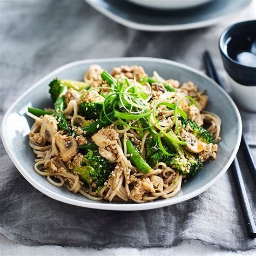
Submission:
[[[40,129],[40,136],[43,138],[43,144],[45,144],[45,142],[51,142],[52,137],[57,131],[58,125],[56,119],[45,114]]]

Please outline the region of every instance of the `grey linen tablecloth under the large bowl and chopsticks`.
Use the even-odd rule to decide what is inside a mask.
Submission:
[[[213,28],[153,33],[124,28],[83,1],[0,4],[1,119],[30,85],[74,60],[150,56],[201,69],[201,54],[207,47],[221,68],[219,33],[239,17]],[[240,19],[252,15],[254,11],[247,9]],[[256,114],[241,111],[241,115],[255,157]],[[255,189],[241,153],[239,161],[254,211]],[[169,247],[184,239],[197,239],[233,251],[255,247],[255,240],[246,234],[231,170],[184,203],[149,211],[112,212],[71,206],[44,196],[19,174],[2,141],[0,166],[0,230],[6,238],[23,244]]]

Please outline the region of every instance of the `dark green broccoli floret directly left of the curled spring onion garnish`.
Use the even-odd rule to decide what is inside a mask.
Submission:
[[[103,110],[102,102],[83,102],[79,105],[79,113],[85,118],[85,120],[99,119],[100,111]],[[106,113],[112,111],[112,104],[106,106]]]

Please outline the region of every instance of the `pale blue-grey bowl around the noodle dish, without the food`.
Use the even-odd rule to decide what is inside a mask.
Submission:
[[[80,194],[69,192],[65,187],[58,188],[48,183],[45,177],[39,176],[33,170],[35,154],[33,154],[29,146],[28,138],[28,133],[33,122],[29,117],[25,116],[25,113],[29,106],[39,108],[52,106],[48,92],[48,84],[53,78],[59,77],[63,79],[82,80],[85,70],[87,70],[91,64],[99,64],[109,71],[111,71],[114,66],[141,65],[149,75],[156,70],[160,76],[166,79],[177,79],[181,83],[191,80],[199,87],[199,90],[207,90],[208,96],[210,97],[207,110],[218,114],[223,121],[220,134],[222,140],[219,143],[217,159],[206,163],[203,171],[196,177],[187,179],[187,182],[183,183],[181,191],[175,197],[159,199],[144,204],[92,201]],[[24,178],[28,180],[32,186],[37,188],[37,190],[64,203],[88,208],[118,211],[148,210],[177,204],[198,196],[198,194],[207,190],[207,188],[212,186],[223,176],[231,165],[239,148],[241,131],[241,117],[237,107],[230,96],[212,79],[197,70],[177,62],[143,57],[90,59],[66,64],[52,71],[49,75],[32,85],[28,91],[12,104],[5,113],[2,121],[2,140],[6,151],[19,172],[21,172]]]

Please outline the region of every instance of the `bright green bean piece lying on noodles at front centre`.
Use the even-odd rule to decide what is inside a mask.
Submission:
[[[127,139],[126,142],[127,154],[130,154],[130,159],[134,165],[138,168],[139,171],[146,174],[152,171],[152,168],[147,164],[147,162],[140,156],[139,151],[132,144],[130,139]]]

